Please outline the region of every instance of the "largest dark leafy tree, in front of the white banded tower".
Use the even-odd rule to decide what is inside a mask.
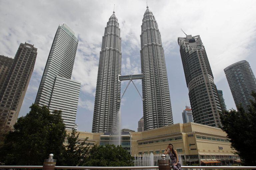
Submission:
[[[50,114],[47,107],[30,106],[30,112],[18,119],[0,148],[5,165],[42,165],[50,153],[60,159],[66,136],[61,111]]]

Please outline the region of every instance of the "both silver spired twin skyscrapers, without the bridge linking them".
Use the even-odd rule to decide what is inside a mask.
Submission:
[[[164,49],[157,22],[148,7],[142,20],[140,39],[144,130],[172,125]],[[113,12],[102,38],[92,132],[111,132],[118,126],[121,60],[120,28]]]

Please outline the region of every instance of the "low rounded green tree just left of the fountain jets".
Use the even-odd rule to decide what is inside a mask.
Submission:
[[[94,145],[84,166],[133,166],[134,158],[121,146]]]

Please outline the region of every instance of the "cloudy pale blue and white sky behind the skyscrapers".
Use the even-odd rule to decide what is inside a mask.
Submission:
[[[121,29],[122,75],[139,74],[146,0],[0,0],[0,54],[13,58],[25,42],[38,48],[19,117],[34,103],[55,33],[66,23],[79,39],[72,72],[72,80],[82,83],[76,123],[79,131],[91,132],[102,36],[114,4]],[[235,109],[223,69],[247,60],[256,73],[256,1],[148,0],[148,6],[162,37],[174,123],[182,123],[181,113],[190,106],[177,42],[178,37],[185,37],[181,28],[187,35],[200,35],[217,89],[223,91],[227,109]],[[122,82],[121,95],[127,83]],[[135,84],[142,94],[141,80]],[[130,84],[121,101],[122,128],[137,131],[142,116],[141,97]]]

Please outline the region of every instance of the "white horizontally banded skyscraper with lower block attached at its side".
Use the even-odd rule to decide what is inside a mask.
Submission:
[[[52,112],[62,110],[66,129],[75,127],[81,83],[70,80],[78,39],[66,25],[58,27],[46,62],[35,103]]]

